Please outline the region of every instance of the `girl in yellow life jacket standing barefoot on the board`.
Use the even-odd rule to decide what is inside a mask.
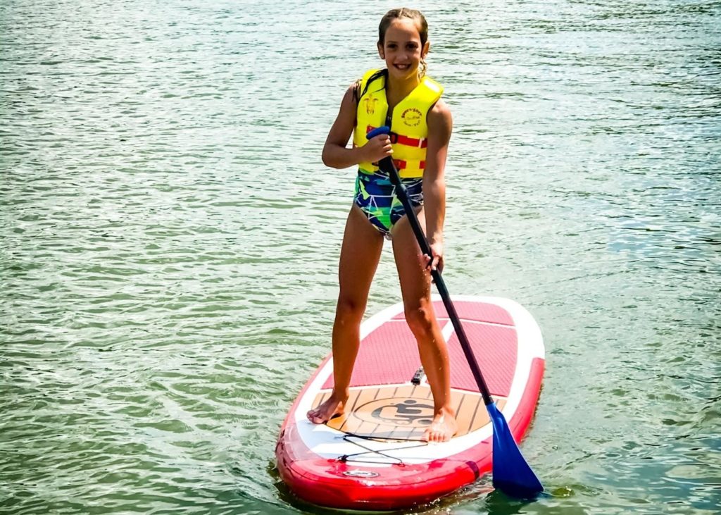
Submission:
[[[448,441],[456,433],[451,408],[448,351],[430,301],[430,270],[443,269],[443,218],[451,112],[440,100],[443,88],[425,76],[428,24],[413,9],[392,9],[381,19],[378,52],[386,69],[371,70],[348,88],[323,147],[329,167],[358,165],[355,201],[340,252],[340,294],[332,335],[335,386],[328,400],[308,412],[313,423],[342,415],[360,345],[360,325],[384,236],[393,242],[405,317],[433,393],[433,423],[427,441]],[[366,133],[390,126],[390,135],[366,141]],[[353,148],[346,148],[353,133]],[[403,206],[377,162],[393,156],[432,249],[421,255]]]

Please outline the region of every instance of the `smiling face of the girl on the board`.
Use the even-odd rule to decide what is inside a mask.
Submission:
[[[420,34],[410,18],[397,18],[391,22],[384,43],[378,44],[378,53],[386,61],[388,73],[397,79],[418,76],[421,58],[428,53],[428,41],[420,44]]]

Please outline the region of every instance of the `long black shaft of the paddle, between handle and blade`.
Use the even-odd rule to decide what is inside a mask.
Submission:
[[[410,226],[413,229],[413,233],[415,234],[415,239],[417,239],[418,245],[420,245],[420,250],[424,254],[433,257],[433,253],[430,250],[430,245],[428,244],[428,239],[425,239],[423,229],[420,228],[418,217],[415,214],[413,206],[411,206],[411,203],[408,200],[408,194],[406,192],[405,186],[401,182],[401,178],[398,175],[398,170],[396,170],[396,165],[394,164],[393,159],[391,159],[390,157],[384,157],[384,159],[381,159],[381,161],[379,162],[379,167],[381,170],[383,170],[389,175],[391,182],[395,186],[396,195],[403,204],[406,216],[408,217]],[[483,402],[485,403],[485,405],[490,405],[493,403],[493,400],[491,398],[490,392],[488,392],[488,386],[485,382],[485,379],[483,379],[483,374],[481,374],[481,369],[478,366],[478,362],[476,361],[476,356],[474,356],[471,344],[468,342],[468,338],[466,338],[466,333],[463,330],[463,326],[461,325],[461,320],[459,320],[458,313],[456,312],[456,307],[454,307],[453,302],[451,301],[451,295],[448,294],[446,283],[443,282],[443,277],[441,277],[441,271],[438,269],[430,270],[430,274],[431,276],[433,276],[435,287],[438,289],[438,293],[441,294],[441,299],[443,299],[443,305],[446,307],[448,316],[451,317],[451,322],[453,322],[453,326],[456,329],[456,335],[458,335],[458,339],[461,342],[461,348],[463,348],[463,352],[466,355],[466,361],[468,361],[468,365],[471,367],[473,377],[474,379],[476,379],[478,389],[480,390],[483,397]]]

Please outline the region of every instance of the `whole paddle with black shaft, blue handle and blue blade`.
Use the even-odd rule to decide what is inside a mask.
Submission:
[[[379,127],[369,132],[366,138],[371,139],[379,134],[388,134],[390,131],[391,129],[389,127]],[[408,195],[398,175],[398,170],[396,170],[393,159],[390,157],[381,159],[379,167],[389,175],[391,182],[395,186],[395,193],[403,204],[420,250],[424,254],[432,256],[433,254],[431,254],[428,240],[425,239],[423,229],[420,228],[418,218],[408,200]],[[446,306],[448,316],[451,317],[451,322],[453,322],[454,328],[456,329],[456,335],[458,335],[458,339],[461,342],[461,348],[463,348],[466,360],[471,367],[473,377],[476,379],[478,389],[481,392],[483,402],[486,405],[488,415],[493,425],[493,486],[512,497],[533,498],[543,491],[543,485],[541,485],[534,471],[531,470],[531,467],[526,463],[526,460],[523,459],[521,450],[518,449],[516,440],[513,439],[513,434],[510,432],[508,422],[506,422],[505,417],[500,413],[491,398],[485,379],[483,379],[483,375],[481,374],[481,369],[473,354],[473,349],[468,342],[468,338],[466,338],[466,333],[463,330],[458,313],[456,313],[456,308],[451,301],[450,294],[448,294],[448,289],[446,289],[446,283],[443,282],[443,278],[441,277],[441,272],[439,270],[431,270],[430,273],[433,276],[435,287],[438,288],[438,293],[441,294],[443,305]]]

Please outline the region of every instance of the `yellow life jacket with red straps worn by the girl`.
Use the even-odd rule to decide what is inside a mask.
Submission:
[[[356,111],[353,144],[363,146],[366,134],[374,128],[386,125],[388,100],[386,78],[379,76],[368,84],[368,79],[378,70],[366,71],[361,79]],[[366,88],[367,86],[367,88]],[[365,91],[365,94],[363,92]],[[443,87],[430,77],[424,76],[420,84],[393,108],[391,118],[391,144],[393,161],[401,177],[423,177],[425,154],[428,146],[428,111],[441,98]],[[358,164],[361,172],[373,173],[378,164]]]

